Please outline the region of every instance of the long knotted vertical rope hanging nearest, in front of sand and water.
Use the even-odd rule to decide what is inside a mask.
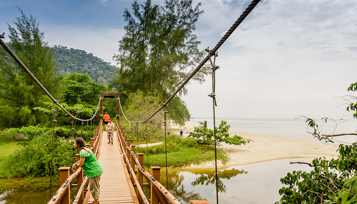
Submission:
[[[213,135],[215,137],[215,166],[216,166],[216,198],[217,198],[217,204],[218,204],[218,175],[217,175],[217,140],[216,140],[216,116],[215,116],[215,106],[217,106],[217,102],[216,102],[216,93],[215,93],[215,89],[216,89],[216,70],[219,69],[220,67],[215,65],[216,63],[216,56],[217,53],[212,51],[212,50],[207,50],[208,51],[208,55],[210,56],[210,62],[211,62],[211,69],[212,69],[212,93],[209,94],[208,96],[210,96],[212,98],[212,103],[213,103]],[[213,63],[211,60],[211,55],[214,56],[213,58]]]

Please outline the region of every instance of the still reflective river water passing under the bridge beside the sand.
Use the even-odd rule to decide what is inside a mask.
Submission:
[[[307,172],[313,170],[306,164],[289,164],[290,161],[311,162],[312,159],[281,159],[218,169],[218,202],[268,204],[279,201],[281,196],[278,191],[285,186],[280,183],[282,177],[294,170]],[[167,172],[166,182],[166,168],[161,168],[160,183],[181,204],[189,204],[189,200],[207,200],[211,204],[216,203],[215,169],[167,169]],[[56,190],[52,190],[51,193],[54,194]],[[77,187],[72,186],[72,201],[76,191]],[[144,185],[144,193],[147,198],[150,197],[148,185]],[[0,193],[0,204],[46,204],[50,200],[49,196],[49,190],[6,191]]]

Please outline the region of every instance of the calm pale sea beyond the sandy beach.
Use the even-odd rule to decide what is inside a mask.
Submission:
[[[188,121],[188,123],[199,125],[199,121],[207,120],[207,126],[209,128],[213,127],[213,118],[203,118],[203,117],[193,117]],[[227,121],[231,125],[230,130],[273,135],[287,138],[296,138],[317,141],[320,143],[325,143],[324,141],[319,141],[317,138],[307,133],[307,124],[305,119],[285,119],[285,118],[216,118],[216,126],[221,123],[221,120]],[[317,124],[322,124],[321,120],[315,120]],[[327,121],[323,125],[322,133],[331,134],[335,131],[335,134],[340,133],[356,133],[357,132],[357,120],[351,119],[340,123],[337,125],[336,130],[335,122]],[[310,128],[310,132],[313,130]],[[346,144],[353,143],[357,141],[356,136],[338,136],[335,137],[335,143],[327,143],[328,145]],[[326,143],[325,143],[326,144]]]

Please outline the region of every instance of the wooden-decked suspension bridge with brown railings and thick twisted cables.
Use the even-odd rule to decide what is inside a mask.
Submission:
[[[174,93],[162,103],[162,106],[157,109],[149,118],[142,121],[129,121],[124,113],[123,116],[125,120],[129,123],[147,123],[147,121],[157,114],[161,109],[164,109],[165,114],[165,132],[166,132],[166,112],[165,107],[170,102],[172,98],[185,86],[188,81],[202,68],[203,65],[209,60],[212,69],[212,93],[208,96],[212,98],[213,103],[213,132],[216,139],[216,126],[215,126],[215,106],[216,104],[216,94],[215,94],[215,71],[219,68],[215,64],[215,59],[218,56],[217,50],[221,45],[228,39],[228,37],[235,31],[235,29],[242,23],[242,21],[247,17],[247,15],[255,8],[260,0],[253,0],[250,5],[245,9],[245,11],[240,15],[240,17],[235,21],[231,28],[226,32],[222,39],[217,43],[217,45],[209,50],[206,49],[208,55],[202,62],[192,71],[190,75],[187,76],[186,80],[182,82],[180,86],[176,89]],[[36,77],[31,73],[29,69],[22,63],[22,61],[15,55],[15,53],[7,46],[4,41],[4,34],[0,35],[1,46],[11,55],[11,57],[20,65],[20,67],[35,81],[35,83],[46,93],[46,95],[51,99],[53,103],[53,120],[52,126],[54,127],[56,119],[55,112],[58,106],[63,111],[65,111],[72,118],[72,130],[74,121],[81,121],[82,126],[84,122],[96,121],[96,130],[92,138],[90,139],[90,144],[86,144],[88,148],[95,154],[99,162],[101,163],[104,173],[100,181],[100,198],[99,202],[103,203],[120,203],[120,204],[180,204],[178,200],[172,195],[169,190],[167,190],[160,183],[160,167],[151,166],[150,170],[144,168],[144,154],[135,154],[135,145],[130,145],[130,139],[127,139],[125,130],[122,129],[120,125],[120,99],[119,93],[100,93],[100,101],[97,106],[92,118],[84,120],[76,118],[71,115],[69,111],[61,106],[58,100],[55,100],[52,95],[42,86],[42,84],[36,79]],[[211,58],[214,58],[213,61]],[[116,131],[114,132],[115,139],[113,145],[106,145],[102,143],[103,137],[106,137],[106,132],[102,131],[102,100],[103,98],[116,98]],[[99,110],[99,113],[98,113]],[[92,122],[91,122],[92,123]],[[81,126],[81,130],[83,127]],[[52,134],[52,139],[54,138]],[[215,141],[216,149],[216,141]],[[79,161],[79,155],[76,156],[77,161]],[[52,169],[52,164],[51,164]],[[149,173],[150,171],[151,173]],[[51,175],[52,176],[52,175]],[[88,188],[89,179],[84,175],[83,169],[80,167],[74,173],[70,174],[70,167],[59,168],[60,177],[60,188],[50,199],[48,204],[86,204],[93,201],[91,193]],[[145,181],[145,182],[144,182]],[[71,200],[70,188],[74,182],[77,183],[77,193],[75,198]],[[150,186],[150,197],[147,198],[143,191],[143,185],[146,183]],[[88,190],[84,190],[87,186]],[[136,190],[134,188],[136,187]],[[217,189],[217,157],[216,157],[216,198],[218,204],[218,189]],[[206,200],[190,200],[192,204],[207,204]]]

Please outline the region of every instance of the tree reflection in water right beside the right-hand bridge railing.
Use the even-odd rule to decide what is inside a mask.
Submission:
[[[166,172],[165,172],[166,173]],[[185,191],[185,186],[182,184],[183,175],[177,171],[169,171],[169,188],[167,188],[175,198],[182,203],[182,200],[185,203],[190,203],[190,200],[202,200],[199,193],[194,191]],[[165,185],[166,184],[166,174],[163,175],[160,180],[160,183]]]

